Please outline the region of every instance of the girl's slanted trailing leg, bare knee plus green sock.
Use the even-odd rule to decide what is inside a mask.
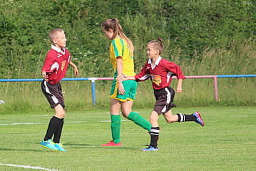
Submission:
[[[136,123],[138,126],[142,127],[143,129],[148,130],[151,129],[151,124],[146,121],[145,118],[141,117],[138,113],[132,112],[132,104],[133,101],[122,102],[121,111],[125,118]]]

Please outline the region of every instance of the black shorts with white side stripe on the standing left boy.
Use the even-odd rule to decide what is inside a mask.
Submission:
[[[61,84],[56,83],[54,85],[42,80],[41,83],[42,93],[45,94],[46,99],[48,100],[50,107],[54,108],[58,104],[61,104],[65,108],[64,98],[61,92]]]

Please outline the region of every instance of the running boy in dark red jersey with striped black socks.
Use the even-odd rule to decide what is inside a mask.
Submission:
[[[173,75],[178,78],[177,93],[182,91],[182,80],[185,79],[181,72],[180,66],[174,64],[173,62],[167,61],[160,56],[164,45],[162,44],[162,39],[152,40],[148,42],[146,53],[148,55],[148,61],[146,62],[140,73],[135,76],[124,75],[118,77],[118,80],[136,80],[144,81],[148,78],[152,81],[152,86],[154,88],[154,96],[157,99],[154,105],[154,110],[151,113],[151,142],[148,148],[142,149],[142,151],[158,151],[157,140],[159,138],[159,125],[158,118],[159,115],[164,115],[167,123],[172,122],[185,122],[185,121],[195,121],[201,126],[204,126],[203,119],[199,112],[192,113],[191,115],[186,115],[184,113],[178,113],[176,115],[172,114],[171,108],[176,107],[173,104],[173,98],[175,92],[173,88],[170,88],[170,82]]]

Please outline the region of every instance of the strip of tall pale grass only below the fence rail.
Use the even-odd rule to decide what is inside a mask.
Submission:
[[[175,104],[179,107],[209,105],[255,105],[255,77],[221,78],[218,80],[219,102],[214,99],[214,83],[211,79],[184,80],[183,92],[176,94]],[[40,83],[0,83],[0,114],[53,112],[40,90]],[[61,82],[67,111],[108,108],[111,81],[96,81],[96,105],[92,104],[91,82]],[[176,88],[176,80],[173,80]],[[151,82],[138,84],[134,107],[153,107],[155,102]]]

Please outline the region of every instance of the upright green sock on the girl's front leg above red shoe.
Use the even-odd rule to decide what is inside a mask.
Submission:
[[[113,142],[120,142],[121,118],[120,115],[111,115],[111,133]]]

